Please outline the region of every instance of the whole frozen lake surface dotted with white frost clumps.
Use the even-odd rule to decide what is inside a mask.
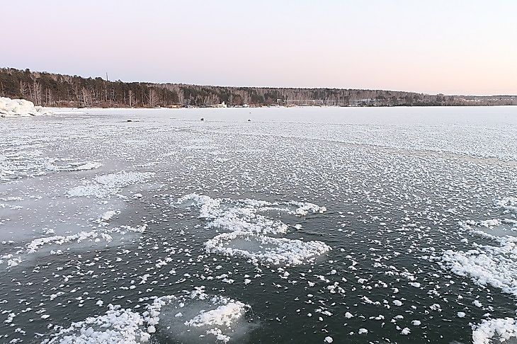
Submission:
[[[0,343],[517,343],[516,234],[515,107],[0,120]]]

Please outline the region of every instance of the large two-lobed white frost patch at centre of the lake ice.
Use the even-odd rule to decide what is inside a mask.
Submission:
[[[279,219],[270,219],[264,213],[285,212],[298,217],[325,212],[325,207],[304,202],[266,202],[260,200],[213,199],[205,195],[186,195],[176,204],[195,205],[200,218],[207,219],[208,228],[223,229],[229,233],[215,236],[205,243],[209,253],[240,256],[254,265],[298,265],[330,251],[322,241],[301,241],[277,238],[268,234],[287,234],[288,226]]]

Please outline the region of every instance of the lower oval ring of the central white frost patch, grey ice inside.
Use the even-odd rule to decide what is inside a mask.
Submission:
[[[272,238],[246,231],[224,233],[205,243],[210,253],[249,258],[252,263],[298,265],[330,251],[321,241]]]

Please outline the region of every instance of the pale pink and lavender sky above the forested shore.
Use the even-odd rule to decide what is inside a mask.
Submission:
[[[0,67],[516,95],[516,13],[516,0],[0,0]]]

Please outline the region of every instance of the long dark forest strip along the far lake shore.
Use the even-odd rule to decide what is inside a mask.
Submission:
[[[444,96],[343,88],[268,88],[107,81],[13,68],[0,69],[0,96],[56,107],[517,105],[516,96]]]

